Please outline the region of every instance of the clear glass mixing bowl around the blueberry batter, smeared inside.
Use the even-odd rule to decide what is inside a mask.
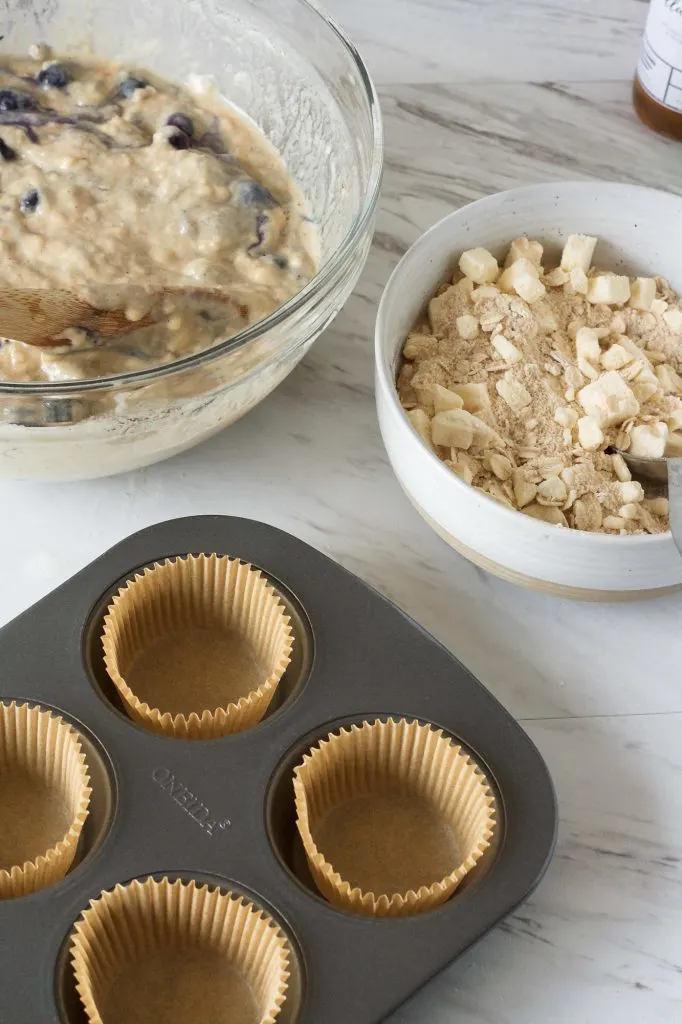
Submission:
[[[23,0],[0,52],[47,42],[186,80],[210,75],[284,158],[317,225],[315,278],[266,319],[138,373],[0,383],[0,475],[83,479],[150,465],[244,416],[303,357],[352,291],[381,185],[381,116],[352,43],[306,0]]]

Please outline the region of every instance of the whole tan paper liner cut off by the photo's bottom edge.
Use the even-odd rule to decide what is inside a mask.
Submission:
[[[90,1024],[273,1024],[287,995],[283,932],[243,897],[132,882],[92,900],[72,943]]]

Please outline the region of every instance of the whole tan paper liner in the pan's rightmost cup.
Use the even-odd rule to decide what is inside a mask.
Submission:
[[[440,729],[366,722],[294,772],[298,830],[319,892],[352,913],[402,916],[449,899],[483,855],[494,798]]]

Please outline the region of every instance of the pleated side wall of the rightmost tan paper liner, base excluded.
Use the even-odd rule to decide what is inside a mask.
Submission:
[[[415,891],[364,892],[343,879],[317,847],[315,829],[335,808],[367,794],[397,792],[423,799],[452,829],[461,856],[444,878]],[[351,725],[314,746],[294,772],[298,830],[315,886],[352,913],[403,916],[449,899],[489,846],[495,801],[468,754],[440,729],[389,719]],[[410,850],[396,837],[396,857]]]

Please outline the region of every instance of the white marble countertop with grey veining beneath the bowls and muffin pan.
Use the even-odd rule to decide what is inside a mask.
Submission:
[[[228,513],[296,534],[443,641],[523,723],[558,791],[557,852],[536,895],[391,1024],[682,1020],[682,594],[576,604],[470,565],[400,493],[372,385],[380,290],[454,207],[580,177],[682,191],[682,146],[630,104],[647,5],[328,5],[385,116],[385,188],[355,294],[280,389],[202,447],[116,479],[0,482],[0,623],[161,519]]]

